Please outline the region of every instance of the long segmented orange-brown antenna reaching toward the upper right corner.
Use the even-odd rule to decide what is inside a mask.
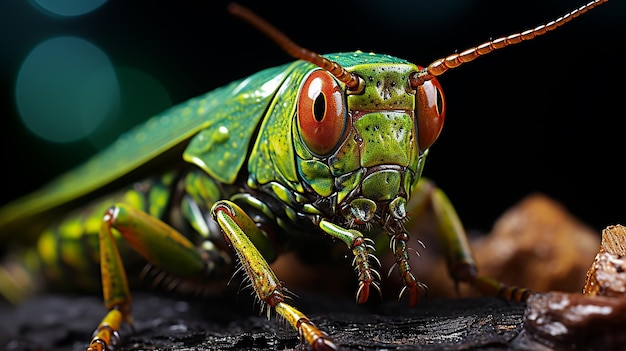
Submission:
[[[522,41],[531,40],[535,37],[543,35],[549,31],[552,31],[565,23],[571,21],[572,19],[582,15],[583,13],[591,10],[592,8],[601,5],[608,0],[595,0],[583,5],[575,10],[572,10],[566,13],[564,16],[557,18],[554,21],[550,21],[546,24],[542,24],[534,29],[529,29],[520,33],[511,34],[509,36],[500,37],[485,43],[482,43],[473,48],[467,49],[458,54],[452,54],[446,58],[441,58],[430,65],[428,67],[422,69],[417,73],[417,79],[420,82],[425,80],[432,79],[432,77],[442,75],[444,72],[451,68],[459,67],[460,65],[470,62],[476,59],[479,56],[486,55],[491,53],[497,49],[502,49],[509,45],[518,44]]]

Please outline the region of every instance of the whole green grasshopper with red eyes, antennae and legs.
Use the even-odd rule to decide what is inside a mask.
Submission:
[[[232,5],[233,14],[299,60],[175,106],[2,208],[0,242],[23,228],[40,233],[39,259],[53,279],[99,266],[108,313],[88,350],[113,347],[122,323],[132,324],[125,266],[133,253],[181,289],[243,272],[268,316],[275,311],[316,350],[337,349],[292,306],[269,264],[294,241],[330,236],[352,253],[356,300],[364,303],[380,292],[373,238],[383,232],[404,286],[400,296],[413,306],[425,285],[412,272],[407,214],[419,216],[427,206],[455,282],[524,300],[528,290],[478,275],[456,211],[421,177],[445,118],[436,76],[604,2],[426,67],[358,51],[319,55]],[[122,251],[128,247],[132,252]],[[16,290],[2,275],[0,289],[7,297]]]

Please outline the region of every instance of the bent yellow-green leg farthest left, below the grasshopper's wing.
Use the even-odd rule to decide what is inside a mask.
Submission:
[[[111,349],[119,339],[122,322],[132,327],[131,294],[114,229],[148,262],[177,277],[199,276],[205,269],[194,245],[172,227],[126,204],[111,207],[99,232],[102,292],[109,312],[96,328],[88,351]]]

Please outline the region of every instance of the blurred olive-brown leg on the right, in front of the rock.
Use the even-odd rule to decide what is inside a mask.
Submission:
[[[465,229],[454,206],[445,193],[428,179],[421,179],[415,191],[417,198],[432,206],[437,221],[441,249],[448,270],[455,283],[465,282],[486,295],[501,296],[507,300],[525,301],[530,290],[506,285],[496,279],[478,275]],[[413,204],[424,208],[423,204]]]

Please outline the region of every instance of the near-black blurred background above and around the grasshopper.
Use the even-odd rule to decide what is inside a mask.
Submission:
[[[582,5],[568,1],[241,1],[320,53],[376,51],[427,65],[490,38],[533,28]],[[436,4],[435,4],[436,3]],[[292,59],[224,1],[109,1],[76,18],[26,1],[0,5],[0,204],[97,152],[87,142],[43,141],[18,119],[14,86],[39,42],[78,36],[116,66],[158,80],[173,103]],[[304,11],[301,10],[304,7]],[[610,1],[531,42],[444,74],[447,122],[424,175],[448,193],[466,226],[488,231],[509,206],[541,191],[600,230],[626,223],[622,197],[624,14]],[[33,102],[36,103],[36,102]],[[162,102],[155,102],[160,105]],[[115,136],[158,111],[120,121]],[[108,133],[108,134],[105,134]]]

